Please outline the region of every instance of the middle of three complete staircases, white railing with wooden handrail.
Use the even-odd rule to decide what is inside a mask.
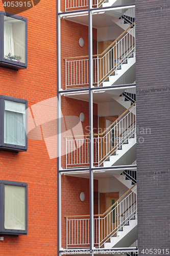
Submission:
[[[128,165],[136,160],[136,102],[103,133],[93,135],[94,166]],[[88,135],[66,141],[66,168],[89,166]],[[76,147],[75,145],[81,145]]]

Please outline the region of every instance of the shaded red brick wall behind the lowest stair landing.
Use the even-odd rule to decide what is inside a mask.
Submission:
[[[66,218],[90,214],[89,175],[87,178],[62,176],[62,247],[66,248]],[[94,180],[94,214],[99,214],[98,180]],[[85,194],[85,200],[80,200],[80,193]],[[79,218],[78,218],[79,219]],[[88,219],[88,217],[87,217]],[[80,224],[80,223],[79,223]],[[80,247],[80,246],[79,246]]]

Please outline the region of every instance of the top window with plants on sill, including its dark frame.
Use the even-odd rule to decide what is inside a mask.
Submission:
[[[0,12],[0,66],[27,68],[27,18]]]

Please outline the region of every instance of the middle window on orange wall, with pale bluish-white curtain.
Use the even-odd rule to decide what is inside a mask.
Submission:
[[[0,95],[0,150],[27,151],[27,100]]]

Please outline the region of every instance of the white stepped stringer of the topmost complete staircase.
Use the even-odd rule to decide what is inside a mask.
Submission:
[[[135,54],[135,52],[133,53]],[[121,65],[121,69],[116,70],[114,75],[110,75],[108,77],[109,81],[103,82],[103,87],[108,87],[114,85],[114,83],[125,73],[127,72],[133,65],[136,63],[136,57],[127,58],[127,63],[123,63]]]

